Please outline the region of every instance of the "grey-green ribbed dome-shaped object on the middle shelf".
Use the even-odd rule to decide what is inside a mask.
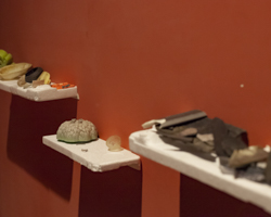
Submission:
[[[89,142],[98,139],[98,130],[91,122],[74,118],[59,127],[56,139],[70,143]]]

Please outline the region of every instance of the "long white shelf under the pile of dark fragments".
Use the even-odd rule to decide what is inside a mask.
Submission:
[[[218,165],[165,143],[154,129],[131,133],[130,150],[271,214],[271,187],[224,175]]]

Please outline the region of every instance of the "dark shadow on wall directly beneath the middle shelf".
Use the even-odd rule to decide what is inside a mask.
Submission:
[[[105,173],[81,168],[79,217],[140,217],[142,171],[128,166]]]

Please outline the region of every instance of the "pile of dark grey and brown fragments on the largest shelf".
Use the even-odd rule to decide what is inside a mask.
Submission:
[[[166,128],[160,128],[159,124],[155,127],[166,143],[202,158],[217,161],[223,174],[271,184],[270,148],[248,146],[244,129],[217,117],[210,119],[207,115]]]

